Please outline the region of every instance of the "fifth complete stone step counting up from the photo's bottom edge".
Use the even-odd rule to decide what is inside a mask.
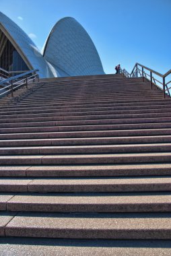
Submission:
[[[34,155],[34,156],[0,156],[0,164],[130,164],[170,162],[170,152],[136,153],[136,154],[86,154],[86,155]]]

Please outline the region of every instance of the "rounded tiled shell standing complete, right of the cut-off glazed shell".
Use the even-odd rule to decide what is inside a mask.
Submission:
[[[44,58],[61,75],[104,74],[100,57],[86,30],[73,18],[55,24],[44,46]]]

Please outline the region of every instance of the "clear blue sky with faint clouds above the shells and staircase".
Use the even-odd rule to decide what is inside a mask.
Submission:
[[[171,0],[0,0],[0,11],[42,48],[50,29],[66,16],[86,29],[104,71],[136,62],[160,73],[171,69]]]

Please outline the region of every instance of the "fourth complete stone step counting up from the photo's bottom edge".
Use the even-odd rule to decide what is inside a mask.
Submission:
[[[0,166],[0,177],[125,177],[171,175],[171,164]]]

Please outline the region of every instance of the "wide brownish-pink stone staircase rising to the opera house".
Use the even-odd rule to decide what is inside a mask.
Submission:
[[[0,165],[0,254],[171,255],[171,101],[149,82],[68,77],[6,96]]]

